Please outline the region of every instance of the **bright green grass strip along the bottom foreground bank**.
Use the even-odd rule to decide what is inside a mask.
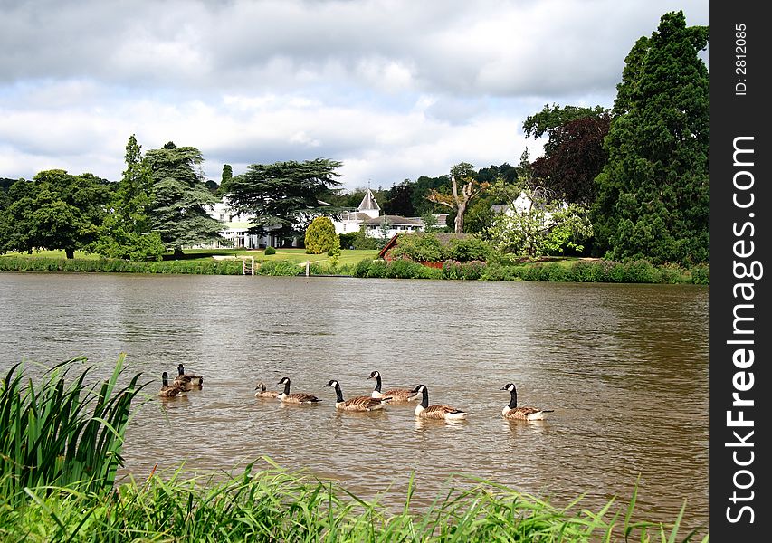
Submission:
[[[249,464],[223,481],[152,473],[106,494],[76,488],[28,489],[24,510],[0,502],[0,539],[16,541],[284,541],[284,542],[575,542],[697,541],[680,535],[683,510],[671,525],[634,521],[635,496],[615,510],[565,508],[489,481],[438,496],[411,511],[408,485],[402,510],[361,500],[336,484],[286,472],[270,459]],[[214,481],[214,482],[213,482]],[[701,541],[707,542],[704,535]]]

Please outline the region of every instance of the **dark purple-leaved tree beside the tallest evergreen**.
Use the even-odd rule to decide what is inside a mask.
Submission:
[[[611,117],[593,113],[548,130],[544,157],[533,164],[533,176],[560,199],[590,205],[596,199],[595,178],[606,162],[603,148]]]

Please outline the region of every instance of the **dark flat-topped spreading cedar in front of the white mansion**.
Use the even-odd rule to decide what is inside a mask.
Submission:
[[[250,232],[283,238],[300,235],[311,217],[339,212],[337,206],[323,205],[319,200],[340,186],[335,179],[340,166],[337,160],[327,158],[252,164],[231,180],[231,205],[237,213],[253,215]]]

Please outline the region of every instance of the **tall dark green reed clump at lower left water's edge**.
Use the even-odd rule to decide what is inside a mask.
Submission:
[[[131,401],[147,385],[138,386],[137,374],[118,387],[124,360],[121,354],[112,375],[91,385],[86,379],[93,367],[68,383],[85,357],[52,367],[39,385],[24,376],[22,363],[8,370],[0,383],[0,492],[6,499],[26,500],[26,488],[112,488]]]

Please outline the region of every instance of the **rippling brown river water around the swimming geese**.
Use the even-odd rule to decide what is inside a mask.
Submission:
[[[263,457],[398,507],[415,474],[429,504],[471,475],[567,505],[621,504],[642,519],[708,524],[708,288],[511,281],[258,276],[0,274],[0,369],[86,356],[107,376],[119,353],[153,393],[135,410],[128,473],[236,472]],[[160,400],[163,371],[205,377]],[[427,386],[465,421],[416,420],[410,406],[339,414],[389,387]],[[253,397],[256,381],[322,402]],[[501,409],[554,409],[538,423]],[[623,511],[624,514],[624,511]],[[680,531],[685,535],[685,531]]]

